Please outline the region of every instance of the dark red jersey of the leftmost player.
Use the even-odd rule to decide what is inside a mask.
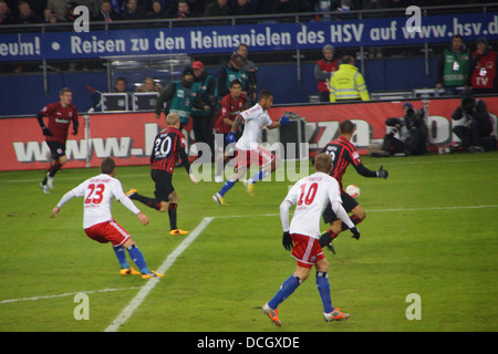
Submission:
[[[72,104],[68,107],[63,107],[60,102],[52,103],[44,106],[38,115],[39,117],[49,117],[48,128],[51,136],[46,136],[48,142],[65,144],[71,122],[73,123],[73,128],[77,131],[77,110]]]

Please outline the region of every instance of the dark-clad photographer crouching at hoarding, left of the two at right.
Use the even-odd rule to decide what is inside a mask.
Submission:
[[[423,155],[427,152],[427,125],[424,122],[424,110],[414,110],[407,102],[403,105],[403,118],[387,118],[385,125],[391,132],[384,136],[382,149],[390,155]]]

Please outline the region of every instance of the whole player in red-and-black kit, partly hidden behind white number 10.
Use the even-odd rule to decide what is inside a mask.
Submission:
[[[388,173],[387,170],[383,169],[382,166],[376,171],[370,170],[369,168],[363,166],[356,147],[354,147],[354,145],[351,143],[351,137],[353,136],[355,126],[351,121],[342,122],[339,125],[340,136],[326,144],[321,153],[326,153],[332,157],[333,166],[330,175],[339,181],[344,209],[347,212],[353,214],[351,220],[353,220],[354,225],[359,225],[365,219],[366,212],[353,197],[344,191],[342,185],[342,176],[344,176],[346,167],[350,164],[353,165],[356,171],[364,177],[387,178]],[[347,229],[347,227],[341,222],[335,212],[332,210],[330,204],[323,211],[323,221],[325,223],[330,223],[331,228],[321,236],[320,244],[322,247],[328,246],[330,250],[335,253],[332,246],[332,240],[335,239],[341,231]],[[357,240],[360,237],[354,238]]]

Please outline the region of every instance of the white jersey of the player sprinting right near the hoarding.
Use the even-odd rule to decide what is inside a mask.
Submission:
[[[259,138],[263,126],[272,123],[268,111],[264,111],[259,104],[240,113],[245,123],[243,134],[237,142],[236,147],[240,150],[252,150],[258,148]]]

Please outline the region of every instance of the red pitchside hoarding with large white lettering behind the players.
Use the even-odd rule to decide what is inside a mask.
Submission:
[[[484,97],[488,111],[495,119],[497,134],[498,97]],[[429,146],[445,146],[456,138],[452,133],[450,116],[460,104],[458,98],[414,100],[414,108],[423,108],[424,102],[428,112]],[[356,124],[353,143],[360,154],[367,153],[373,142],[382,140],[385,135],[385,119],[403,115],[404,102],[369,102],[354,104],[315,104],[277,106],[270,110],[273,119],[284,113],[292,112],[305,118],[305,144],[309,144],[310,156],[323,148],[339,134],[339,124],[352,119]],[[80,116],[83,125],[83,116]],[[84,129],[76,136],[69,135],[65,168],[86,166],[87,149],[91,149],[90,166],[97,167],[104,157],[114,157],[116,165],[148,165],[155,135],[165,126],[164,118],[156,119],[154,113],[108,113],[90,115],[91,138],[85,139]],[[50,152],[39,128],[37,117],[17,117],[0,119],[0,129],[6,132],[0,140],[2,159],[0,170],[44,169],[50,162]],[[191,119],[184,133],[189,143],[194,142]],[[268,134],[268,143],[279,140],[278,135]],[[195,146],[195,145],[194,145]],[[195,150],[190,146],[190,155]]]

